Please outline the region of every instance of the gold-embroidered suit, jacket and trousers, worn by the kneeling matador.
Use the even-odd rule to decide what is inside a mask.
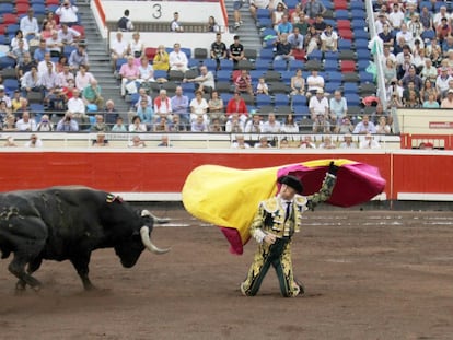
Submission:
[[[280,196],[259,203],[251,225],[251,235],[259,245],[247,278],[241,284],[241,291],[244,295],[256,295],[270,266],[277,272],[283,296],[292,297],[303,293],[302,284],[297,282],[292,272],[291,239],[293,234],[301,230],[302,213],[309,209],[313,210],[317,203],[326,201],[332,195],[335,183],[336,176],[326,174],[320,191],[306,197],[295,195],[287,219],[286,207],[283,207]],[[268,233],[277,237],[272,245],[263,241]]]

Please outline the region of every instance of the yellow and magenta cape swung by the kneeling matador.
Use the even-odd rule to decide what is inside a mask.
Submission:
[[[220,226],[230,242],[230,251],[242,254],[251,237],[248,227],[258,203],[279,190],[277,178],[297,176],[303,184],[303,195],[311,195],[321,188],[332,161],[339,169],[328,203],[351,207],[384,190],[385,179],[376,167],[349,160],[318,160],[253,169],[201,165],[186,178],[183,203],[197,219]]]

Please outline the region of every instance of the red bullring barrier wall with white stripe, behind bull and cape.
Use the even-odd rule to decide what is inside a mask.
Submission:
[[[453,200],[453,152],[391,150],[155,150],[73,149],[0,151],[0,191],[57,185],[85,185],[136,201],[178,201],[195,167],[217,164],[236,168],[281,166],[320,159],[349,159],[376,166],[386,179],[381,200]]]

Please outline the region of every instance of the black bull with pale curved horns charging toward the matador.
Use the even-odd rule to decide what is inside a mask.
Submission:
[[[135,211],[119,197],[85,187],[0,194],[1,258],[14,254],[9,270],[19,279],[18,290],[26,284],[40,288],[32,273],[43,259],[70,260],[84,289],[90,290],[93,250],[115,248],[126,268],[132,267],[146,248],[156,254],[169,250],[151,242],[154,218],[148,210]]]

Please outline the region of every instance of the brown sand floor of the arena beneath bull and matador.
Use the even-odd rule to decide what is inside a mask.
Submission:
[[[44,262],[44,288],[14,295],[0,261],[0,339],[453,339],[453,213],[318,211],[293,243],[306,294],[280,297],[274,271],[244,297],[255,245],[228,253],[214,226],[183,210],[124,269],[112,249],[92,256],[85,293],[66,262]]]

